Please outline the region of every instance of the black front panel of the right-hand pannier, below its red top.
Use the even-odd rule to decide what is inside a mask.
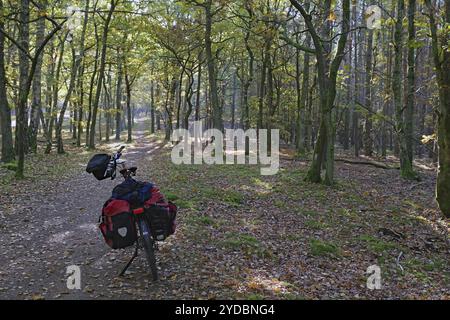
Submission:
[[[172,219],[169,208],[166,206],[152,205],[145,209],[147,221],[150,224],[150,232],[153,239],[164,241],[173,234]]]

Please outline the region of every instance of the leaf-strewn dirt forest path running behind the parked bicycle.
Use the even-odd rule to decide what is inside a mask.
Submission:
[[[124,152],[138,168],[148,166],[158,150],[144,133],[144,121],[138,121],[134,143]],[[127,277],[133,281],[122,282],[116,276],[133,248],[110,250],[97,227],[102,205],[120,178],[97,181],[84,172],[85,163],[79,165],[80,173],[71,179],[8,204],[13,214],[2,219],[0,233],[1,298],[136,298],[140,289],[148,298],[142,254],[129,268]],[[139,177],[138,170],[138,178],[150,177]],[[81,290],[67,288],[66,270],[71,265],[80,267]]]

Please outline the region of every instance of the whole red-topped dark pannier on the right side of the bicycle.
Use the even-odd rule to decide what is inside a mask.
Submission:
[[[144,203],[145,215],[150,223],[150,230],[154,239],[163,241],[176,230],[177,206],[166,201],[157,187],[151,190],[150,199]]]

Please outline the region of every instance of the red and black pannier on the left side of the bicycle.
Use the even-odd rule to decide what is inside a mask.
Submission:
[[[136,242],[136,224],[127,201],[109,199],[103,206],[99,222],[103,238],[111,248],[122,249]]]

